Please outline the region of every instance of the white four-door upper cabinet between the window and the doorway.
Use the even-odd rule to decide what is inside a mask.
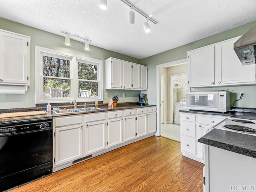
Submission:
[[[148,67],[108,58],[105,60],[105,88],[147,90]]]

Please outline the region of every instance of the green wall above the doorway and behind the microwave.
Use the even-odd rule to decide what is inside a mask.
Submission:
[[[240,36],[244,34],[251,26],[254,26],[254,25],[256,25],[256,21],[140,60],[140,64],[148,66],[148,76],[155,77],[155,78],[148,78],[149,89],[148,91],[145,92],[148,94],[148,98],[150,98],[150,103],[156,104],[156,94],[157,94],[156,65],[164,64],[164,63],[168,63],[176,60],[186,59],[187,51]],[[201,88],[201,90],[209,90],[209,89],[212,90],[213,88],[212,87]],[[256,85],[225,86],[225,87],[216,87],[214,89],[225,89],[225,90],[229,89],[230,92],[232,92],[231,94],[232,103],[234,100],[239,98],[239,92],[246,92],[246,98],[236,102],[234,106],[256,108]]]

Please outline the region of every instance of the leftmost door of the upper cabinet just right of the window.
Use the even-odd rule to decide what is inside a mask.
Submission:
[[[123,62],[121,60],[111,60],[112,88],[122,88]]]

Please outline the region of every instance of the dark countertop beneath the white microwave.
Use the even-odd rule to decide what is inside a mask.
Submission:
[[[218,115],[218,116],[226,116],[226,117],[233,117],[233,118],[256,120],[256,111],[254,111],[254,109],[249,111],[252,111],[252,112],[228,111],[226,113],[222,113],[222,112],[199,111],[199,110],[189,110],[189,109],[180,110],[180,112],[182,113],[192,113],[192,114],[201,114],[201,115]]]

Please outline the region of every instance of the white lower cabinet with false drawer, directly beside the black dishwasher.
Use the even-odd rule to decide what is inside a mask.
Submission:
[[[82,116],[54,119],[55,166],[82,157]],[[65,125],[63,122],[66,122]]]

